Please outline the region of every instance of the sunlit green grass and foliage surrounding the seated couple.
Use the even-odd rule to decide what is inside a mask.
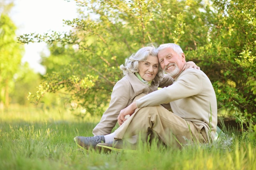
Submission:
[[[16,34],[9,16],[15,3],[0,3],[0,169],[255,168],[254,0],[65,2],[71,1],[77,17],[63,20],[70,30],[23,35]],[[49,49],[40,56],[44,74],[21,62],[24,46],[41,42]],[[223,126],[223,139],[200,149],[184,146],[183,152],[143,146],[136,157],[77,151],[72,138],[92,135],[108,107],[112,87],[123,76],[119,66],[150,42],[179,44],[186,60],[194,61],[211,79],[220,125],[229,118],[239,127]],[[159,165],[164,155],[175,163],[162,159],[164,164]],[[195,155],[196,161],[191,159]],[[129,159],[136,168],[123,165]],[[141,166],[148,160],[148,166]]]

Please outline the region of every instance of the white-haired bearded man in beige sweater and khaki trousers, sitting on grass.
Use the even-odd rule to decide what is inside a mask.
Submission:
[[[174,78],[174,83],[121,110],[118,116],[120,127],[110,134],[113,142],[99,141],[97,146],[120,148],[120,141],[148,132],[153,132],[167,146],[180,148],[188,142],[210,143],[214,139],[217,101],[211,81],[201,70],[182,70],[186,60],[177,44],[162,44],[157,52],[160,66]],[[160,106],[165,103],[170,103],[172,111]],[[126,119],[126,115],[130,118]],[[83,139],[79,142],[84,145]],[[90,145],[90,142],[85,143]]]

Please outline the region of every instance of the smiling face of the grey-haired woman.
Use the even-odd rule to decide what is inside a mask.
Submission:
[[[157,56],[148,56],[144,62],[139,62],[139,75],[146,81],[152,81],[157,75],[159,62]]]

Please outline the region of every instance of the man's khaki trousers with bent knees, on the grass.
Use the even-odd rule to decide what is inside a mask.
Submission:
[[[188,142],[207,143],[203,126],[186,121],[163,106],[139,108],[117,130],[115,139],[125,139],[133,135],[152,131],[167,146],[179,147]]]

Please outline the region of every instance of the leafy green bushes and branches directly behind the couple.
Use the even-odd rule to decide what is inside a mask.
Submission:
[[[243,115],[251,115],[247,120],[255,117],[252,0],[76,2],[80,17],[64,22],[74,30],[19,38],[22,43],[45,41],[51,46],[58,42],[62,55],[65,51],[72,56],[67,57],[70,63],[65,68],[45,76],[40,91],[31,99],[65,89],[71,100],[89,113],[102,113],[99,111],[107,106],[112,86],[122,77],[119,65],[126,57],[149,42],[174,42],[184,49],[187,60],[198,62],[212,80],[219,108],[228,108],[231,113],[240,109]]]

